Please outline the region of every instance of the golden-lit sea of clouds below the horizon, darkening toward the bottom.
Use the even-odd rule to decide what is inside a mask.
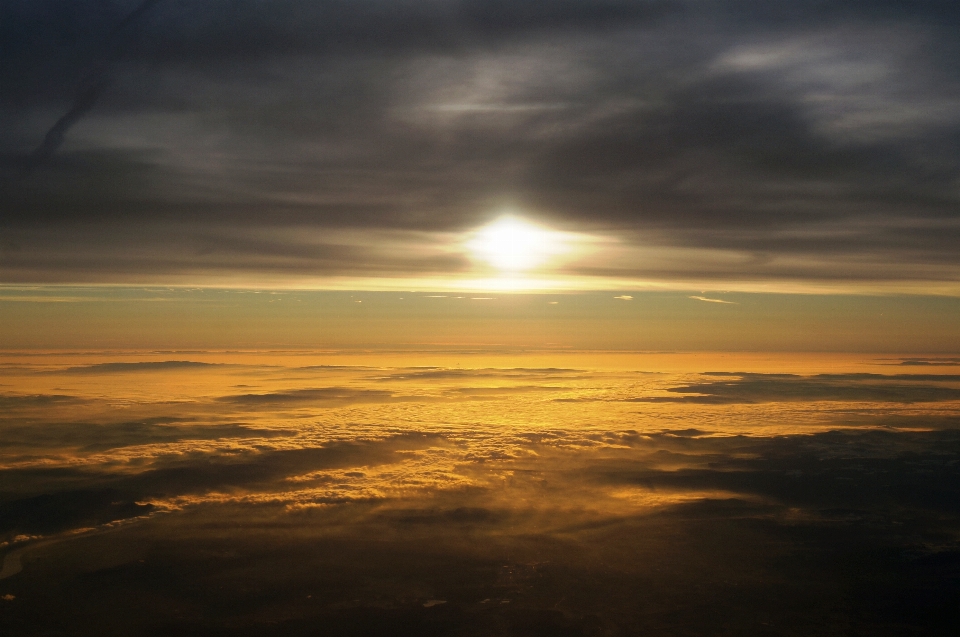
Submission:
[[[723,614],[730,582],[763,579],[750,570],[759,569],[774,588],[798,589],[789,611],[798,617],[828,612],[823,587],[835,586],[876,626],[894,621],[864,601],[853,571],[831,570],[833,551],[866,560],[876,576],[869,586],[909,570],[933,591],[936,617],[952,617],[960,376],[951,361],[940,369],[942,361],[925,360],[931,365],[912,374],[903,370],[919,359],[861,357],[811,372],[815,363],[797,371],[774,357],[768,371],[740,372],[695,371],[663,357],[654,365],[643,355],[632,368],[622,356],[609,365],[589,353],[529,367],[461,354],[467,365],[421,365],[430,357],[415,353],[399,357],[409,364],[393,356],[377,365],[366,356],[344,364],[329,354],[316,354],[318,363],[302,353],[97,353],[22,356],[5,367],[0,541],[12,557],[2,587],[20,600],[18,612],[33,612],[47,599],[36,590],[53,581],[93,577],[106,591],[117,585],[116,569],[140,569],[160,551],[166,583],[156,574],[121,577],[135,596],[175,595],[170,587],[198,568],[240,594],[237,555],[253,560],[249,577],[270,573],[272,592],[250,597],[247,614],[216,610],[209,582],[195,590],[192,610],[171,625],[200,632],[240,616],[261,628],[279,621],[293,634],[321,615],[356,626],[343,619],[348,607],[386,617],[439,608],[427,604],[448,597],[457,599],[436,612],[453,613],[456,626],[480,621],[481,602],[499,609],[488,617],[494,624],[570,634],[687,626],[690,617],[644,619],[621,599],[619,587],[648,581],[654,562],[671,582],[657,593],[663,608],[689,606],[706,578],[713,588],[703,603]],[[343,557],[356,551],[367,557]],[[296,554],[325,566],[314,564],[308,577]],[[486,566],[474,564],[480,571],[460,581],[449,569],[425,574],[405,561],[440,554],[463,568]],[[803,560],[812,570],[802,585],[785,583]],[[512,574],[484,570],[500,562]],[[331,564],[340,569],[334,580],[346,583],[317,592],[336,589],[325,579]],[[553,569],[552,584],[544,569]],[[584,577],[607,598],[585,592],[576,583]],[[748,588],[754,608],[765,589]],[[277,596],[314,594],[312,610],[274,616]],[[64,621],[83,595],[67,597]],[[159,630],[168,620],[158,608],[120,622],[116,634]],[[939,626],[915,610],[896,621]],[[725,621],[738,626],[749,615],[729,612]],[[11,626],[27,621],[11,617]],[[407,617],[418,626],[411,630],[426,630],[416,617]]]

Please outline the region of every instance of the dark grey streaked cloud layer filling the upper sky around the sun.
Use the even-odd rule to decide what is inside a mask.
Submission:
[[[0,281],[456,275],[442,246],[509,208],[618,241],[568,266],[597,280],[956,292],[958,22],[947,1],[8,0]]]

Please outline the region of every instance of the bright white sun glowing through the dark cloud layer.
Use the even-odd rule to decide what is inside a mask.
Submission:
[[[568,252],[568,243],[566,233],[503,216],[477,230],[466,246],[476,258],[502,272],[522,272]]]

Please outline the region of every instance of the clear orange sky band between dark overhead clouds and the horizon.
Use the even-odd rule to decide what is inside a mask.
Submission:
[[[960,351],[960,299],[932,296],[7,287],[0,313],[8,350]]]

